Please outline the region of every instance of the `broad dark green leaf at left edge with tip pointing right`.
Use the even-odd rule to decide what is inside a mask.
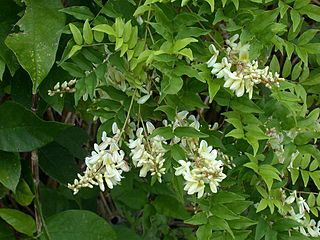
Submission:
[[[60,131],[70,127],[41,120],[21,105],[7,101],[0,106],[0,150],[30,152],[53,141]]]

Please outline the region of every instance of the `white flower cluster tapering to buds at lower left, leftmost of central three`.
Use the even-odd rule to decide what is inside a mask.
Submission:
[[[78,174],[79,179],[75,179],[73,184],[68,184],[68,188],[77,194],[82,187],[92,188],[98,185],[101,191],[105,190],[105,183],[108,188],[120,184],[122,172],[128,172],[129,166],[124,160],[124,152],[118,146],[120,130],[116,123],[112,125],[114,136],[107,137],[106,132],[102,134],[102,142],[94,144],[94,151],[90,157],[86,157],[86,170],[83,176]]]

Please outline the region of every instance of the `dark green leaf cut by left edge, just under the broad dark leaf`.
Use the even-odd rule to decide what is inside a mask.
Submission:
[[[15,192],[19,183],[20,173],[19,155],[0,151],[0,183]]]

